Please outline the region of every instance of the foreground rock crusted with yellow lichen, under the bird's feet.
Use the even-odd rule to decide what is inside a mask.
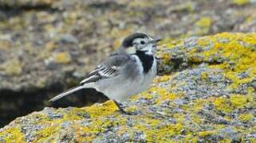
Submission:
[[[49,108],[0,129],[2,142],[254,142],[256,34],[165,40],[160,75],[117,111],[112,101]]]

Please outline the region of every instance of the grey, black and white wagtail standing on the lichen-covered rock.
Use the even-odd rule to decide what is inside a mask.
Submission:
[[[81,89],[94,88],[112,99],[119,110],[120,102],[148,89],[156,76],[156,59],[152,49],[160,39],[153,39],[145,33],[132,33],[124,38],[116,52],[113,52],[77,87],[50,99],[54,102]]]

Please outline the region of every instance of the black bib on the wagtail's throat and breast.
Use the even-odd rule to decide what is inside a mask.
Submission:
[[[154,56],[148,55],[143,51],[136,51],[136,56],[139,56],[140,58],[144,73],[148,73],[148,71],[152,68]]]

